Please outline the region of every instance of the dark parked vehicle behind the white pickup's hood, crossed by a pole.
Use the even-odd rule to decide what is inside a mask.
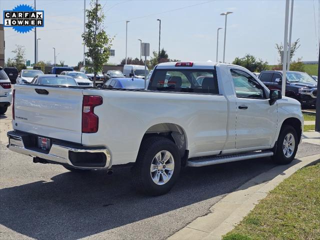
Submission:
[[[261,71],[259,79],[269,89],[281,90],[282,71]],[[315,106],[316,85],[317,82],[305,72],[286,72],[285,95],[298,100],[303,107]]]

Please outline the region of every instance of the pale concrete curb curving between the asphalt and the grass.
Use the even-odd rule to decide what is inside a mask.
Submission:
[[[294,159],[288,165],[273,167],[229,193],[210,208],[210,213],[190,222],[169,240],[220,240],[233,229],[259,200],[298,169],[320,162],[320,154]]]

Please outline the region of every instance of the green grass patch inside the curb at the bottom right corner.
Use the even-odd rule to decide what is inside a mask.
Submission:
[[[281,182],[222,239],[320,239],[320,163]]]

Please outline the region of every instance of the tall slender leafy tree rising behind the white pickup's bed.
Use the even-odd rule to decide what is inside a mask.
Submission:
[[[93,86],[95,86],[96,73],[102,71],[103,63],[109,59],[112,38],[104,31],[105,17],[98,0],[91,0],[90,9],[86,10],[86,18],[86,29],[82,33],[82,38],[87,47],[85,56],[92,59],[92,65],[87,68],[93,71]]]

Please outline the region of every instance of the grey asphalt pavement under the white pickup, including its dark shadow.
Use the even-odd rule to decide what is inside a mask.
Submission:
[[[166,195],[137,194],[129,169],[86,174],[32,163],[6,149],[0,116],[1,239],[165,239],[248,179],[274,166],[269,158],[185,168]],[[320,153],[302,143],[297,157]]]

